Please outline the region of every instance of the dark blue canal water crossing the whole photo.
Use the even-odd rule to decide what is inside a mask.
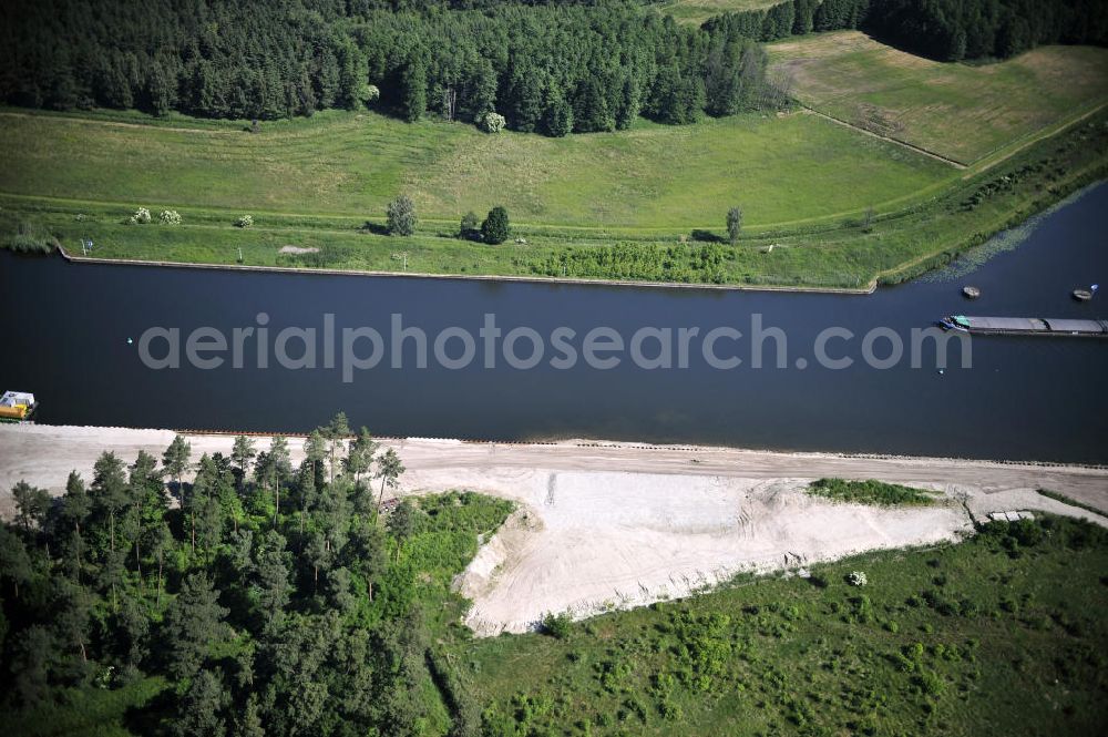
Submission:
[[[962,259],[943,274],[870,296],[76,265],[0,253],[0,389],[33,391],[39,421],[55,424],[291,432],[341,409],[352,424],[390,436],[583,437],[1108,463],[1108,340],[975,337],[972,367],[962,368],[962,350],[952,345],[942,372],[929,342],[921,367],[911,366],[912,329],[952,313],[1108,318],[1108,185],[1025,229],[1022,245],[983,265],[979,257]],[[1091,303],[1071,299],[1074,288],[1098,282],[1106,288]],[[983,296],[963,299],[965,284]],[[507,367],[502,356],[494,368],[484,367],[480,342],[478,359],[465,368],[438,366],[432,355],[419,369],[409,341],[399,354],[404,368],[390,367],[393,355],[349,382],[341,367],[326,368],[321,358],[314,369],[279,368],[271,358],[271,368],[260,369],[249,350],[244,368],[228,359],[212,370],[155,370],[140,360],[140,337],[154,326],[182,336],[213,327],[230,336],[236,327],[260,327],[259,313],[268,316],[270,335],[286,327],[321,334],[330,314],[340,334],[366,326],[386,342],[393,314],[431,340],[451,327],[478,337],[492,314],[505,332],[529,327],[550,336],[570,328],[578,351],[583,336],[602,326],[627,342],[643,328],[695,327],[704,336],[731,327],[749,336],[752,316],[760,315],[765,327],[786,335],[787,366],[774,367],[772,339],[761,344],[766,358],[758,369],[749,339],[727,338],[714,348],[719,357],[742,359],[730,370],[712,368],[697,341],[687,368],[640,368],[626,351],[611,369],[583,360],[555,368],[547,344],[544,359],[529,370]],[[824,344],[830,357],[852,359],[849,368],[820,365],[814,346],[829,328],[854,336]],[[905,350],[885,369],[866,365],[861,345],[882,328]],[[158,345],[152,352],[165,354]],[[448,354],[459,356],[461,345],[448,342]],[[529,341],[515,345],[516,355],[531,354]],[[656,346],[645,340],[643,354],[657,354]],[[879,358],[890,350],[890,338],[875,340]]]

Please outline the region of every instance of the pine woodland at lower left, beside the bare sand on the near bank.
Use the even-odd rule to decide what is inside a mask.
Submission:
[[[365,429],[350,439],[343,414],[298,468],[287,439],[267,444],[195,459],[178,436],[161,462],[104,453],[60,499],[17,484],[0,522],[0,710],[58,729],[81,694],[138,688],[158,695],[137,734],[475,734],[439,648],[461,629],[450,582],[511,503],[382,505],[404,468]]]

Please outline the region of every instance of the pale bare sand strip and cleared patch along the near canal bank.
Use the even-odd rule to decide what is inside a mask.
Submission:
[[[166,430],[0,426],[0,514],[25,480],[61,493],[104,450],[161,455]],[[188,436],[193,457],[233,438]],[[291,438],[294,462],[302,440]],[[554,444],[388,440],[408,472],[401,494],[468,489],[519,511],[459,576],[479,634],[521,632],[546,612],[587,616],[687,595],[740,571],[792,569],[874,549],[927,545],[972,530],[972,516],[1044,510],[1108,526],[1108,516],[1047,499],[1050,489],[1108,512],[1108,470],[927,458],[870,458],[592,441]],[[265,449],[267,441],[259,439]],[[820,477],[932,489],[933,508],[831,504],[804,493]]]

